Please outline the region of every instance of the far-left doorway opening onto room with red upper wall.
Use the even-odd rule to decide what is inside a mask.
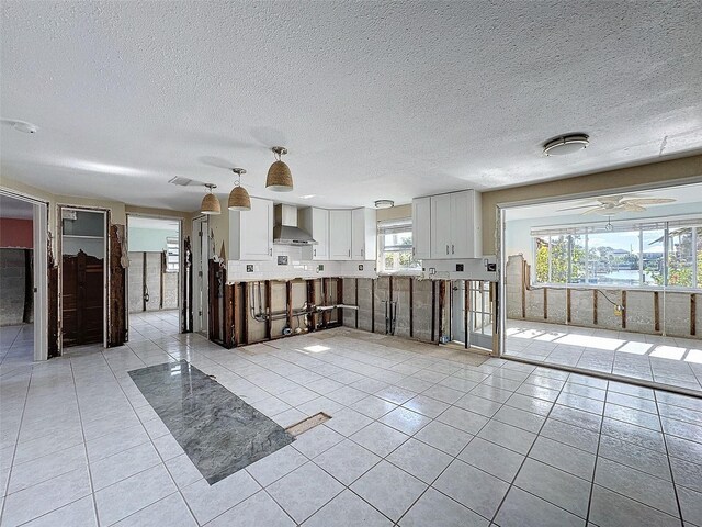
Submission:
[[[47,204],[0,191],[0,363],[47,358]]]

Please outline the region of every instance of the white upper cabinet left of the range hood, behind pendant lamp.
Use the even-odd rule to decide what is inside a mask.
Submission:
[[[273,202],[251,198],[251,210],[229,211],[231,260],[270,260],[273,257]]]

